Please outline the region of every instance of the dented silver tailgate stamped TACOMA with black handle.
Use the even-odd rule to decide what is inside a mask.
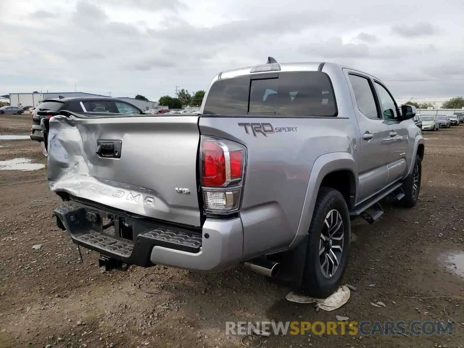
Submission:
[[[200,226],[198,116],[50,120],[48,183],[54,192]]]

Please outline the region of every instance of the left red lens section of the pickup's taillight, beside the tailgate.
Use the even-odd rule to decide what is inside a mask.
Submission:
[[[203,186],[222,186],[226,182],[226,159],[223,149],[214,142],[204,142],[202,161]]]

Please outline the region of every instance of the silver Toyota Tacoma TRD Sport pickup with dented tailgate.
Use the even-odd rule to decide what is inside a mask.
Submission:
[[[377,78],[330,63],[213,78],[198,114],[50,119],[58,226],[107,269],[244,263],[317,297],[342,282],[350,220],[412,207],[424,138]]]

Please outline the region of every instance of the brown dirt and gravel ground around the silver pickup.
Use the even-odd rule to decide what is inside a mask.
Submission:
[[[28,135],[30,123],[29,115],[2,115],[0,134]],[[81,263],[52,218],[60,200],[48,190],[46,168],[0,170],[0,347],[242,347],[226,335],[226,321],[325,322],[335,315],[450,320],[452,335],[271,335],[261,347],[464,347],[464,281],[441,261],[464,251],[464,126],[424,137],[418,204],[386,204],[374,225],[353,222],[344,282],[357,290],[332,312],[289,302],[289,289],[242,267],[213,275],[162,266],[103,272],[98,254],[82,248]],[[20,157],[46,164],[39,143],[0,140],[0,161]],[[386,307],[371,304],[377,301]]]

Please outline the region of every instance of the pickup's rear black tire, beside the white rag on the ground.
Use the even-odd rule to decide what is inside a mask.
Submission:
[[[336,215],[334,211],[338,212],[339,215]],[[324,242],[322,240],[322,234],[329,237],[329,229],[326,227],[327,225],[324,221],[326,217],[334,221],[331,218],[335,216],[338,217],[339,221],[342,221],[342,225],[339,226],[339,223],[336,223],[334,226],[339,227],[332,234],[335,238],[330,237]],[[313,218],[308,233],[308,249],[306,251],[302,290],[310,296],[326,298],[333,294],[341,284],[348,265],[351,226],[348,206],[342,193],[333,188],[321,187],[319,193],[317,193],[316,206],[314,207]],[[338,240],[338,238],[342,238],[342,240]],[[326,246],[321,253],[323,244],[326,244]],[[337,247],[339,244],[342,244],[341,253],[337,251],[340,250],[340,248]],[[329,262],[326,258],[326,251],[331,255],[332,262]],[[334,254],[339,260],[338,267],[334,267]],[[324,275],[322,271],[324,260],[327,262],[327,270],[326,267],[324,267],[326,275]],[[332,263],[332,266],[330,266],[330,263]],[[330,271],[333,271],[334,268],[335,272],[331,274]],[[329,277],[327,277],[327,275],[329,275]]]

